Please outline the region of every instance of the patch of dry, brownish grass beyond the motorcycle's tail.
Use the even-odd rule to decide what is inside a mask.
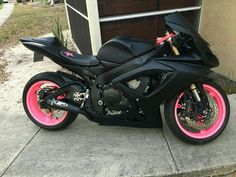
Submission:
[[[23,36],[37,37],[52,32],[56,18],[67,29],[64,4],[55,7],[32,7],[16,5],[10,18],[0,27],[0,48],[11,47],[19,43]]]

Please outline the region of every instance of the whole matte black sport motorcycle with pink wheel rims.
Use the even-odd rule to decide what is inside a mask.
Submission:
[[[194,144],[215,139],[230,113],[226,94],[209,77],[218,59],[182,15],[168,15],[165,23],[166,36],[156,44],[119,36],[97,56],[72,52],[56,38],[22,38],[37,59],[47,56],[68,70],[28,81],[28,117],[49,130],[65,128],[79,113],[100,125],[162,127],[164,103],[166,123],[178,138]]]

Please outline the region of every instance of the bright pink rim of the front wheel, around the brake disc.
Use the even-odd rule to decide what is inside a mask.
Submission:
[[[208,94],[213,97],[213,99],[216,101],[216,104],[218,106],[218,117],[216,118],[215,123],[208,129],[206,130],[201,130],[200,132],[190,132],[188,130],[186,130],[179,122],[179,118],[177,115],[177,109],[179,109],[179,101],[182,98],[182,96],[184,95],[184,93],[180,94],[179,98],[176,101],[175,104],[175,120],[179,126],[179,128],[181,129],[181,131],[188,135],[189,137],[192,138],[196,138],[196,139],[204,139],[204,138],[209,138],[212,135],[214,135],[223,125],[224,120],[225,120],[225,116],[226,116],[226,105],[225,105],[225,101],[223,99],[223,97],[221,96],[221,94],[219,93],[219,91],[217,91],[214,87],[210,86],[210,85],[203,85],[204,90],[206,92],[208,92]]]

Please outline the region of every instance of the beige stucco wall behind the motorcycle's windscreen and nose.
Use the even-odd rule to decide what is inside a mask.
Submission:
[[[215,70],[236,80],[236,0],[203,0],[200,33],[217,51]]]

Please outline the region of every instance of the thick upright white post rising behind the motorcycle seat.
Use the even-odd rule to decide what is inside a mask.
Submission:
[[[98,2],[95,0],[86,0],[89,32],[93,55],[96,55],[102,46],[101,28],[99,22]]]

